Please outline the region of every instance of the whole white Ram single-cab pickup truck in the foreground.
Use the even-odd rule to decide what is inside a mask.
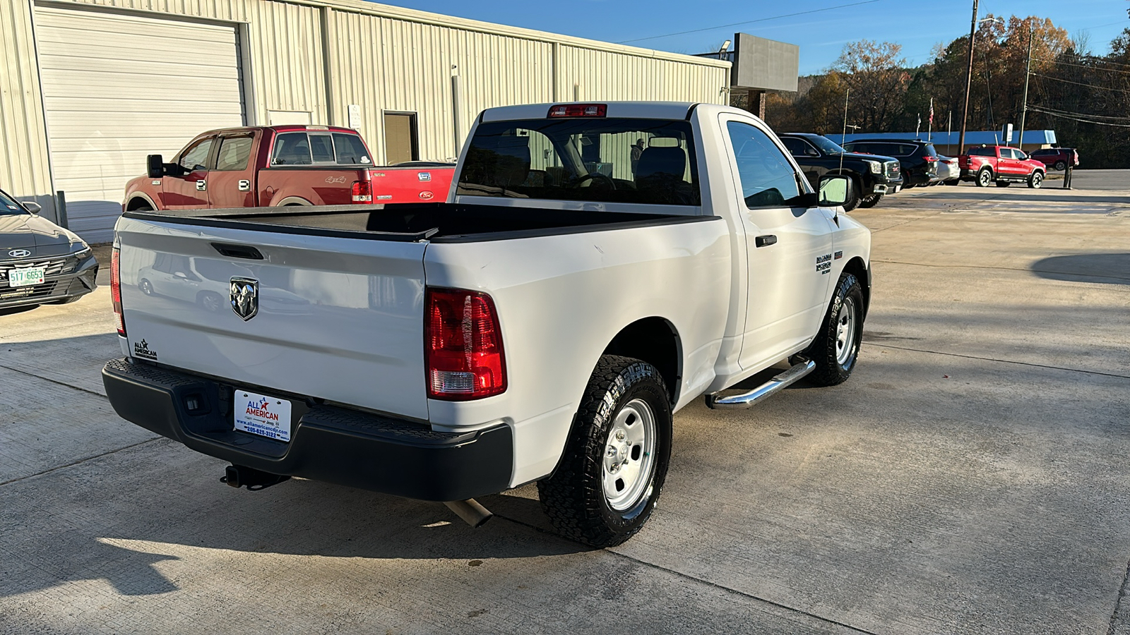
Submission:
[[[467,517],[537,481],[602,547],[650,516],[675,411],[852,372],[871,275],[851,183],[812,191],[749,113],[490,108],[457,172],[445,202],[125,212],[114,409],[236,487],[298,476]]]

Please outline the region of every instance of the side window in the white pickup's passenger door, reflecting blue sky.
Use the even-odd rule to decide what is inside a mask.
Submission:
[[[782,207],[800,194],[797,173],[767,134],[740,121],[727,122],[725,128],[733,145],[746,207]]]

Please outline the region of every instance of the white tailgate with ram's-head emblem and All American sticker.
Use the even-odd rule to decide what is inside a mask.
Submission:
[[[425,243],[132,218],[118,236],[130,355],[427,419]],[[258,286],[247,319],[233,278]]]

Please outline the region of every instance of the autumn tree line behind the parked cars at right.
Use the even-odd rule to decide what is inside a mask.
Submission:
[[[1029,42],[1025,129],[1054,130],[1060,146],[1079,149],[1086,167],[1130,167],[1130,28],[1114,38],[1109,53],[1093,55],[1085,40],[1071,40],[1048,18],[981,23],[966,129],[1019,128]],[[802,77],[797,93],[768,95],[765,118],[775,130],[840,133],[850,95],[849,132],[913,132],[921,116],[925,134],[932,98],[933,130],[945,131],[951,115],[956,132],[968,46],[968,35],[939,44],[932,61],[909,68],[898,44],[849,43],[823,75]],[[737,102],[745,96],[734,97],[741,105]]]

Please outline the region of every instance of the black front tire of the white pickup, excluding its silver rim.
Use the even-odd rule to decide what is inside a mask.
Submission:
[[[840,356],[840,348],[836,346],[838,328],[841,325],[841,312],[851,311],[854,320],[854,329],[850,333],[850,341],[845,342],[850,348],[845,358]],[[855,368],[855,360],[859,358],[859,346],[863,337],[863,289],[859,279],[846,271],[840,276],[836,282],[835,294],[828,305],[828,312],[820,322],[820,330],[817,331],[816,339],[801,354],[802,357],[816,363],[816,369],[808,375],[808,380],[817,385],[836,385],[843,383],[851,376]]]

